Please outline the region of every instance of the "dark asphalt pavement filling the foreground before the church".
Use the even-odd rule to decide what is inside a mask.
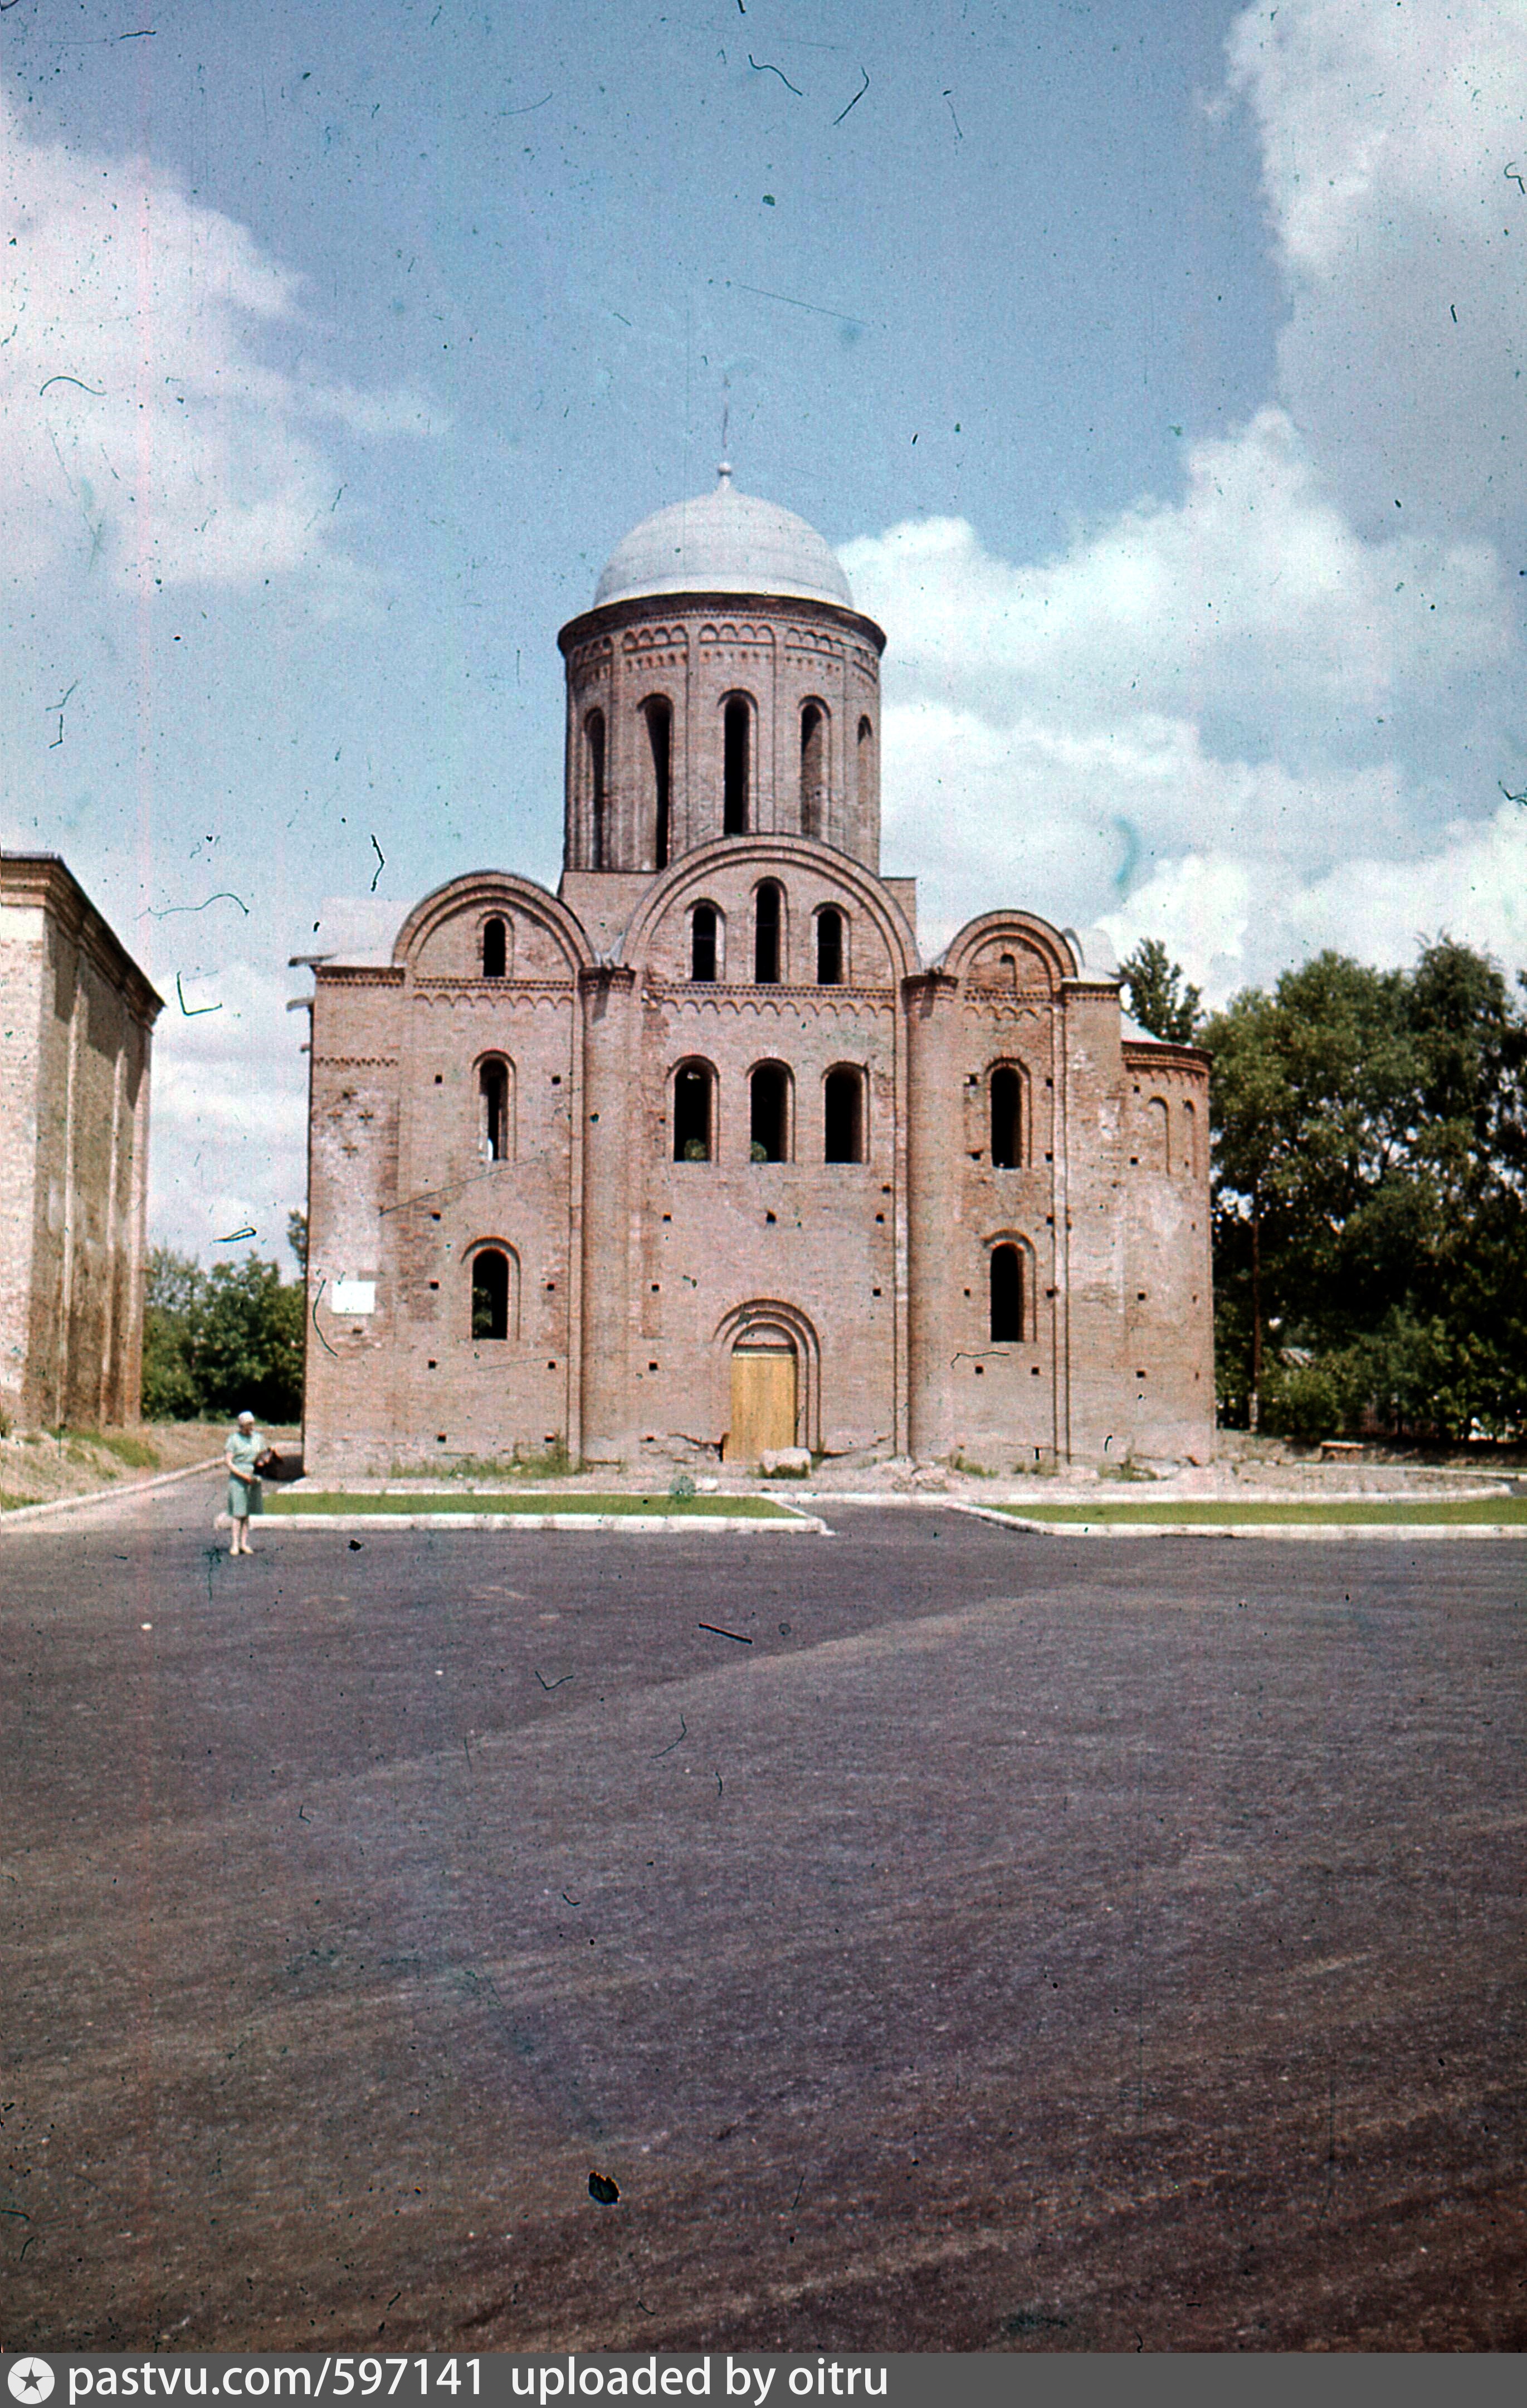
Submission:
[[[0,1531],[7,2350],[1527,2341],[1527,1544],[219,1488]]]

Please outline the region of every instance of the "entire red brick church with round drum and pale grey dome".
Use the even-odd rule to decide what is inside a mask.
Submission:
[[[1207,1452],[1209,1062],[879,867],[879,660],[735,491],[561,631],[556,893],[450,879],[313,961],[306,1462]]]

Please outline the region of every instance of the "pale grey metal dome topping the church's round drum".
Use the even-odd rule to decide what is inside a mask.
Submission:
[[[853,592],[838,559],[795,510],[737,494],[730,467],[698,501],[674,501],[621,537],[595,588],[602,602],[636,595],[802,595],[841,602]]]

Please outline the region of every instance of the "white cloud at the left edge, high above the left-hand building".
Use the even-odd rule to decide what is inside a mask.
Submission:
[[[0,101],[0,544],[113,583],[356,580],[320,421],[436,433],[412,393],[303,385],[258,356],[299,279],[137,159],[26,142]]]

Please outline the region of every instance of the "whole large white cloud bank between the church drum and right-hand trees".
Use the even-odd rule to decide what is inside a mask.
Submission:
[[[925,942],[1014,901],[1120,951],[1156,934],[1211,995],[1438,927],[1527,958],[1498,556],[1363,539],[1286,412],[1060,559],[925,520],[845,566],[894,631],[886,855],[922,874]]]

